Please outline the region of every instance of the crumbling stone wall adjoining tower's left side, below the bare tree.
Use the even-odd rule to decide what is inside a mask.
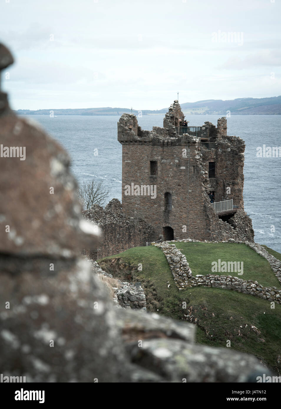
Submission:
[[[154,238],[154,229],[140,218],[125,216],[117,199],[112,199],[104,209],[94,205],[84,210],[82,216],[101,229],[99,244],[85,249],[85,254],[95,260],[132,247],[145,246]]]

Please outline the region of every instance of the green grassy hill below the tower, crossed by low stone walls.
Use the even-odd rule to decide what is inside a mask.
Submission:
[[[247,260],[243,278],[259,279],[264,285],[275,283],[280,288],[265,259],[246,245],[199,243],[188,247],[183,244],[194,243],[177,243],[187,255],[193,274],[209,273],[210,260]],[[178,291],[163,252],[154,246],[135,247],[102,258],[98,263],[116,278],[140,281],[147,298],[147,310],[183,320],[188,310],[192,310],[197,319],[197,342],[225,347],[230,340],[231,348],[256,355],[281,373],[281,305],[275,304],[271,309],[269,301],[219,288],[195,287]],[[138,270],[140,263],[141,271]],[[186,302],[186,309],[183,302]]]

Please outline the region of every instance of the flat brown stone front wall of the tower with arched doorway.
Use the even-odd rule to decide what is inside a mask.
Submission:
[[[189,148],[190,155],[183,156],[183,148]],[[163,234],[165,226],[174,229],[175,238],[186,236],[183,226],[190,236],[211,238],[206,236],[209,222],[203,207],[201,154],[193,137],[183,137],[181,144],[174,139],[164,140],[163,144],[124,144],[122,155],[122,208],[125,214],[141,217],[153,225],[156,238]],[[158,162],[156,176],[150,175],[150,161],[153,160]],[[125,186],[131,186],[131,183],[152,185],[156,188],[156,197],[125,196]],[[165,210],[166,192],[172,195],[172,211]]]

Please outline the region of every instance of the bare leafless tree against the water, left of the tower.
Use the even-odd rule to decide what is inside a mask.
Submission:
[[[104,186],[104,181],[97,182],[90,180],[83,182],[77,189],[78,197],[86,209],[91,209],[93,205],[103,206],[107,201],[110,189]]]

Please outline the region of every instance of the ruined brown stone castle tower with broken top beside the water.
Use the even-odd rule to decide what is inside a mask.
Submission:
[[[124,213],[152,225],[156,240],[252,241],[252,222],[243,204],[244,141],[227,136],[225,117],[217,127],[183,124],[177,100],[163,128],[142,130],[135,115],[120,117]]]

